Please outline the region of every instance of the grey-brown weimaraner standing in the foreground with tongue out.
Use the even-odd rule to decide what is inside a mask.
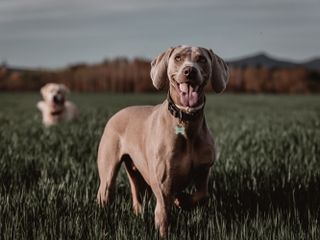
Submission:
[[[168,232],[172,204],[192,208],[208,197],[209,169],[215,145],[204,116],[204,87],[226,88],[225,62],[201,47],[169,48],[151,63],[157,89],[169,88],[167,99],[156,106],[133,106],[107,123],[98,150],[98,202],[109,203],[122,162],[128,174],[133,211],[141,212],[145,191],[156,197],[155,224],[160,236]],[[193,194],[182,191],[195,185]]]

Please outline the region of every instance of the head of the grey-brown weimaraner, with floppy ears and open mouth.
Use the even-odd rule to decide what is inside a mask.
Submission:
[[[215,92],[222,92],[229,78],[228,66],[210,49],[178,46],[169,48],[151,62],[151,79],[157,89],[169,85],[177,104],[194,107],[204,101],[204,87],[210,80]]]

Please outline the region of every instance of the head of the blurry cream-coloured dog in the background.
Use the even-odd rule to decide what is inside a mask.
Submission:
[[[43,99],[53,106],[62,106],[69,89],[64,84],[47,83],[41,90]]]

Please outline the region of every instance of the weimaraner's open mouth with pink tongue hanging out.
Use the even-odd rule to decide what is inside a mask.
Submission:
[[[180,96],[180,101],[185,107],[194,107],[199,100],[199,85],[193,85],[188,82],[178,83],[177,91]]]

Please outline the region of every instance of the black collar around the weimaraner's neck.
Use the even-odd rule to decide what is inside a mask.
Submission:
[[[204,98],[204,103],[200,109],[188,113],[188,112],[181,110],[180,108],[178,108],[176,106],[176,104],[173,102],[173,100],[170,96],[170,92],[168,92],[167,100],[168,100],[169,112],[171,113],[172,116],[174,116],[175,118],[178,118],[180,121],[192,121],[196,117],[198,117],[199,114],[203,111],[203,108],[205,105],[204,103],[206,101],[206,99]]]

